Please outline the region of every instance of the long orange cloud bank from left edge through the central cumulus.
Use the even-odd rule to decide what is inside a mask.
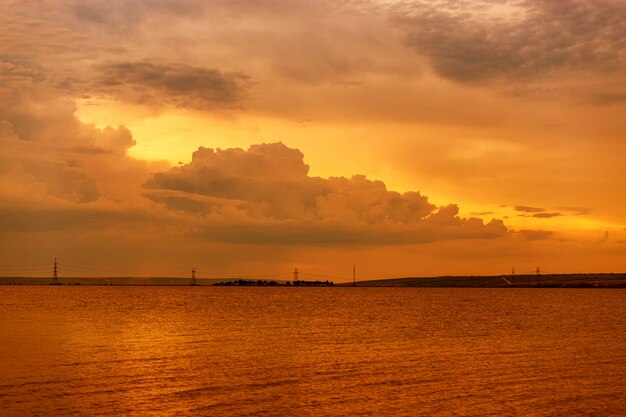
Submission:
[[[304,155],[282,143],[200,148],[191,163],[149,175],[146,163],[126,156],[132,136],[124,127],[65,127],[82,135],[24,140],[0,122],[3,234],[175,230],[204,242],[333,246],[507,232],[500,220],[462,218],[456,205],[436,207],[365,176],[309,176]]]

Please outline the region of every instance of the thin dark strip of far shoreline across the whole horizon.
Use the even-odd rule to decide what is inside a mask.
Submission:
[[[0,285],[48,285],[50,278],[0,277]],[[64,286],[189,286],[189,278],[178,277],[71,277],[59,278]],[[275,280],[276,285],[238,285],[240,278],[198,278],[198,286],[280,286],[280,287],[417,287],[417,288],[626,288],[626,273],[613,274],[542,274],[542,275],[476,275],[389,278],[335,283],[334,285],[285,285],[289,281]],[[233,284],[224,285],[225,282]]]

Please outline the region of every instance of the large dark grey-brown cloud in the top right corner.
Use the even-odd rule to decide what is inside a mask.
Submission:
[[[396,13],[408,44],[439,75],[463,83],[626,70],[623,1],[416,1]]]

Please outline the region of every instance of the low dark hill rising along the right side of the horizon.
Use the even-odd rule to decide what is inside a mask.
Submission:
[[[350,287],[342,283],[338,286]],[[496,276],[442,276],[390,278],[357,281],[357,287],[545,287],[545,288],[626,288],[626,274],[546,274]]]

